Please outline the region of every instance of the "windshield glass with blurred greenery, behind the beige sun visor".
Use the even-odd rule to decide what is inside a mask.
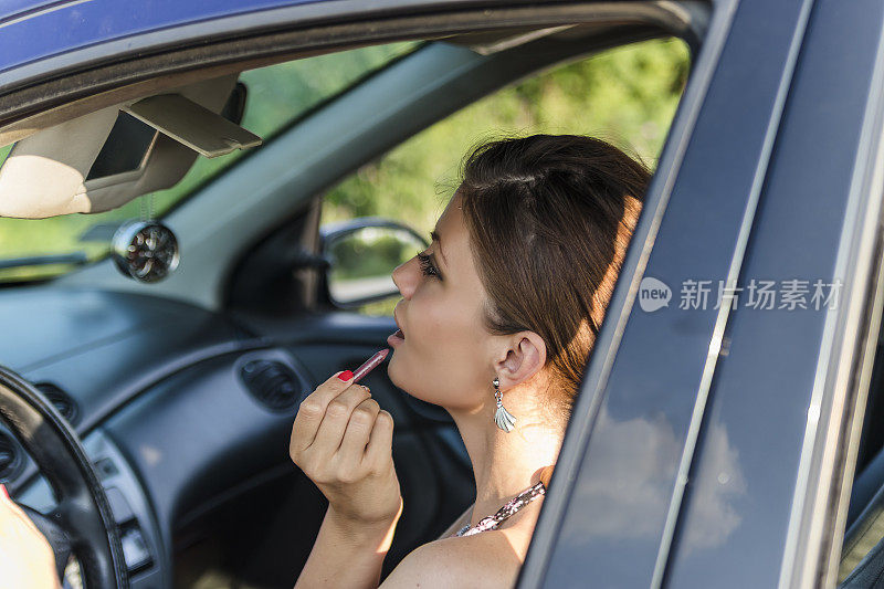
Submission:
[[[248,97],[241,125],[271,139],[311,108],[347,92],[367,75],[414,50],[419,43],[391,43],[318,55],[243,72]],[[0,147],[0,164],[12,146]],[[229,167],[244,151],[208,159],[202,156],[175,187],[150,196],[159,217]],[[66,214],[50,219],[0,219],[0,282],[46,278],[94,262],[110,249],[113,227],[139,218],[148,199],[136,199],[119,209],[98,214]],[[91,231],[101,225],[109,231]],[[85,234],[85,239],[84,239]]]

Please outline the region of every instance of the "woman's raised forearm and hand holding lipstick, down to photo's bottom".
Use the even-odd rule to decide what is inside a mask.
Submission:
[[[328,499],[298,589],[377,588],[402,513],[392,417],[351,379],[348,370],[320,385],[292,429],[292,460]]]

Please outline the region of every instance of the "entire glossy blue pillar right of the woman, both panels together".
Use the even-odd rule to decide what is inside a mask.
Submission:
[[[848,9],[821,0],[811,12],[809,2],[776,8],[740,2],[730,35],[733,45],[747,53],[737,57],[743,65],[728,63],[738,50],[725,48],[719,62],[725,75],[711,85],[707,112],[701,114],[692,137],[697,141],[692,146],[696,161],[706,166],[691,168],[688,148],[644,276],[673,286],[676,297],[673,283],[717,281],[735,275],[734,271],[740,272],[738,287],[744,295],[744,281],[751,277],[832,283],[846,274],[867,273],[866,267],[855,267],[851,255],[856,252],[849,248],[859,246],[860,228],[869,224],[864,212],[873,212],[874,225],[874,211],[880,210],[880,186],[869,179],[877,165],[870,146],[881,134],[882,23],[878,4]],[[778,31],[779,27],[783,29]],[[753,43],[755,35],[759,36]],[[777,57],[781,61],[774,63]],[[793,73],[790,62],[796,64]],[[769,99],[769,107],[759,99]],[[762,113],[770,116],[766,138],[745,118]],[[750,133],[756,143],[746,141]],[[766,150],[771,148],[768,164]],[[756,154],[757,170],[749,173],[745,158]],[[715,166],[728,160],[726,169]],[[744,179],[751,179],[751,185]],[[719,201],[722,197],[746,203],[743,239],[734,239],[730,231],[736,224],[727,224],[728,218],[736,223],[740,214],[727,209],[729,202]],[[704,210],[711,199],[717,210]],[[723,210],[728,217],[719,214]],[[711,230],[719,231],[722,239],[673,248],[702,235],[711,238]],[[730,274],[724,265],[718,270],[712,265],[725,253],[718,246],[729,241]],[[748,244],[745,257],[741,243]],[[870,244],[866,235],[861,245],[870,249]],[[864,293],[853,293],[853,301],[862,303]],[[841,488],[843,462],[819,471],[820,459],[811,454],[820,452],[817,446],[825,433],[818,432],[818,423],[820,430],[850,430],[853,406],[844,389],[831,388],[833,375],[827,372],[836,366],[830,364],[836,361],[839,349],[832,338],[835,320],[842,324],[844,313],[735,307],[719,314],[727,322],[719,325],[727,330],[717,339],[711,325],[702,323],[708,320],[705,313],[672,305],[644,313],[633,306],[544,585],[580,587],[587,579],[593,587],[819,582],[827,551],[836,565],[839,505],[824,494],[807,495],[822,504],[804,499],[818,484],[819,472],[824,475],[819,484],[828,485],[824,491],[831,488],[836,498]],[[653,326],[667,314],[669,326]],[[845,337],[855,341],[855,335]],[[692,347],[691,340],[697,346]],[[692,408],[687,401],[694,389],[680,378],[697,378],[685,367],[706,358],[709,403],[704,407],[701,386]],[[587,378],[590,385],[593,365],[594,360]],[[682,442],[686,430],[688,442],[692,432],[699,434],[696,453]],[[570,442],[566,439],[566,445]],[[827,451],[843,461],[846,443],[844,438],[831,439]],[[630,452],[630,446],[636,449]],[[685,488],[683,502],[680,486]],[[841,508],[846,507],[843,496]],[[823,516],[827,519],[820,523]],[[672,545],[666,543],[664,517]],[[817,527],[811,528],[809,520],[814,517]],[[543,524],[544,515],[538,532]]]

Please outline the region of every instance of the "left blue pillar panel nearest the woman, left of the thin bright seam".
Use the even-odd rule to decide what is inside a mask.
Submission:
[[[715,292],[705,309],[682,309],[677,302],[685,281],[717,285],[739,269],[809,7],[744,0],[736,8],[656,239],[643,244],[653,250],[642,276],[667,285],[672,301],[653,312],[632,304],[607,380],[599,366],[606,358],[593,351],[587,398],[579,399],[572,417],[582,423],[591,419],[591,433],[582,449],[569,427],[559,459],[567,470],[557,469],[551,483],[570,486],[573,480],[568,503],[549,514],[557,519],[545,522],[544,513],[538,523],[538,532],[545,525],[559,530],[545,587],[578,587],[586,579],[598,587],[662,582],[703,416],[708,362],[717,357],[724,326]],[[661,172],[667,170],[657,171],[651,199],[663,189]],[[642,223],[650,221],[643,215],[636,239],[644,238]],[[640,251],[630,249],[625,272],[635,267]],[[622,278],[618,288],[628,288]],[[618,328],[610,316],[622,307],[614,303],[602,330]],[[593,400],[598,406],[591,407]]]

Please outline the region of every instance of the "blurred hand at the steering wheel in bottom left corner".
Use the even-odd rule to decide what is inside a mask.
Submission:
[[[46,538],[0,485],[0,579],[3,587],[59,589],[55,555]]]

